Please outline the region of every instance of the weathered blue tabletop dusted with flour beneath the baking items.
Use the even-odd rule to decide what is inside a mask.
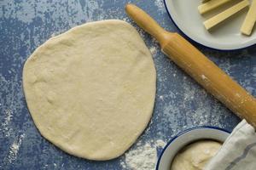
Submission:
[[[112,161],[87,161],[64,153],[44,139],[26,108],[21,72],[35,48],[73,26],[106,19],[126,20],[135,26],[124,11],[128,2],[145,9],[167,30],[177,31],[161,0],[0,0],[0,169],[125,168],[121,165],[125,164],[125,156]],[[153,53],[158,76],[154,115],[138,139],[140,144],[157,139],[166,142],[182,130],[198,125],[232,130],[240,120],[166,59],[152,37],[137,30]],[[256,95],[255,46],[236,52],[199,48]],[[131,150],[136,147],[134,144]]]

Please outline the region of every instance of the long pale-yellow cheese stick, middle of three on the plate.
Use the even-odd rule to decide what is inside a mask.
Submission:
[[[233,14],[238,13],[239,11],[241,11],[241,9],[246,8],[249,4],[250,3],[248,0],[243,0],[241,1],[241,3],[237,3],[233,7],[226,9],[224,12],[213,16],[209,20],[206,20],[204,22],[204,25],[207,28],[207,30],[209,30],[213,26],[216,26],[219,23],[223,22],[224,20],[230,18],[230,16],[232,16]]]

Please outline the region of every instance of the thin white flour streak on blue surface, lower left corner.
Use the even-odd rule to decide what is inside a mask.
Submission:
[[[25,137],[24,133],[20,134],[18,139],[15,139],[14,143],[9,147],[9,155],[7,157],[9,163],[12,163],[17,158],[18,152],[20,150],[20,145],[24,137]]]

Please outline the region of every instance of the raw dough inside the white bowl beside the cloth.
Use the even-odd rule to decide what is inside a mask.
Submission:
[[[171,170],[203,170],[222,144],[213,140],[198,141],[181,150],[172,161]]]

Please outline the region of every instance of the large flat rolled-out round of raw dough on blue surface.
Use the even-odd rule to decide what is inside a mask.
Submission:
[[[154,108],[156,73],[137,31],[121,20],[74,27],[26,60],[26,103],[40,133],[90,160],[122,155]]]

